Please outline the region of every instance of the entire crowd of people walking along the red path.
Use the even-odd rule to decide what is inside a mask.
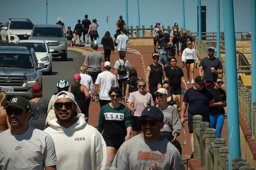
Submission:
[[[50,99],[42,97],[41,87],[34,85],[30,100],[15,96],[7,105],[8,94],[0,91],[1,170],[184,170],[177,137],[184,128],[186,111],[192,151],[194,115],[203,116],[221,137],[227,104],[221,88],[224,82],[218,77],[223,73],[222,63],[214,57],[214,47],[208,48],[208,56],[197,65],[195,43],[186,30],[181,33],[175,23],[170,35],[157,22],[154,53],[148,56],[152,64],[143,79],[138,75],[144,72],[137,73],[126,60],[129,38],[121,15],[114,40],[108,31],[101,40],[104,58],[98,52],[96,19],[91,23],[85,15],[74,31],[70,26],[66,31],[61,20],[57,24],[72,35],[69,46],[74,45],[73,33],[84,47],[90,36],[92,51],[85,65],[77,68],[73,82],[56,82],[56,93]],[[114,46],[119,59],[111,65]],[[177,57],[182,60],[179,66]],[[181,67],[187,69],[188,80]],[[189,84],[193,87],[188,88]],[[91,102],[101,108],[97,128],[87,123],[94,114],[89,113]]]

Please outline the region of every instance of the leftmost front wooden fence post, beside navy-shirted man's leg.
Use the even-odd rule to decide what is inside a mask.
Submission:
[[[200,139],[196,135],[196,130],[199,129],[199,123],[202,122],[203,116],[195,115],[193,116],[193,137],[194,137],[194,159],[200,159]]]

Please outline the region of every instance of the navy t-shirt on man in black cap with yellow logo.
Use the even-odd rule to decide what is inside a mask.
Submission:
[[[213,100],[214,96],[210,89],[204,87],[203,90],[195,90],[194,87],[189,88],[184,94],[183,101],[188,102],[188,117],[199,114],[203,119],[209,119],[210,106],[209,101]]]

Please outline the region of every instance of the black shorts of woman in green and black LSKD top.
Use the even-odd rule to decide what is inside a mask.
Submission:
[[[107,147],[113,147],[116,150],[120,148],[120,146],[124,143],[125,136],[127,134],[116,134],[116,133],[104,133],[102,137],[104,138]]]

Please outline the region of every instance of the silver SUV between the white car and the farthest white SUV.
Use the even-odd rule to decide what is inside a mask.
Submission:
[[[67,61],[67,37],[61,25],[36,24],[32,33],[26,33],[31,40],[44,40],[53,49],[53,57],[61,56]]]

